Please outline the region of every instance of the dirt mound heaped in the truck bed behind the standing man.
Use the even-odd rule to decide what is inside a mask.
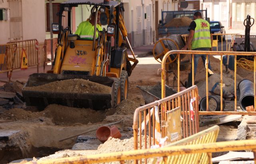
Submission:
[[[164,27],[182,27],[189,26],[193,20],[187,16],[182,16],[181,18],[173,18],[170,22],[166,23]]]

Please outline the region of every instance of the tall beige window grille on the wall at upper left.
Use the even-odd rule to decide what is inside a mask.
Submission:
[[[8,0],[10,8],[10,41],[22,40],[21,0]]]

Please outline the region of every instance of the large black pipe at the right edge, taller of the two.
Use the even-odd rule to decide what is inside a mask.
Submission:
[[[238,89],[240,90],[239,105],[241,109],[246,110],[246,107],[254,105],[253,82],[248,79],[244,79],[239,82]]]

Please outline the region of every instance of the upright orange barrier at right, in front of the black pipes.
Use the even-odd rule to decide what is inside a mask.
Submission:
[[[206,111],[200,111],[200,115],[256,115],[256,96],[254,96],[254,111],[237,111],[237,95],[236,95],[236,57],[238,55],[251,55],[254,56],[254,95],[256,89],[256,52],[230,52],[230,51],[182,51],[174,50],[169,51],[164,55],[162,59],[162,98],[165,98],[165,83],[166,83],[166,61],[171,54],[177,54],[178,62],[178,92],[180,92],[180,54],[191,54],[192,55],[192,85],[194,85],[194,55],[195,54],[206,54],[206,61],[209,59],[209,55],[220,55],[220,100],[223,98],[223,55],[234,55],[234,111],[223,111],[223,102],[220,101],[220,111],[209,111],[208,107],[208,62],[206,62]]]

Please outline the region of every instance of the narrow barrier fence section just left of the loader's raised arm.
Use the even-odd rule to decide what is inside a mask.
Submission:
[[[44,40],[44,70],[49,62],[54,61],[54,53],[58,46],[58,38]]]

